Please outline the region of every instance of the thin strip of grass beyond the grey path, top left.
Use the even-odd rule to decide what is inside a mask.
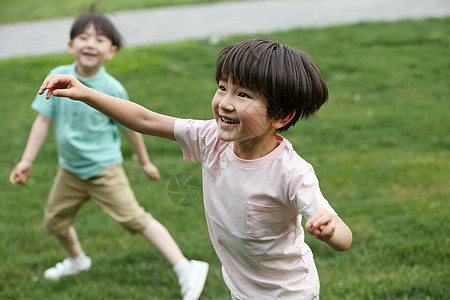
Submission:
[[[97,12],[107,13],[119,10],[224,1],[235,0],[0,0],[0,24],[75,16],[90,11],[92,8],[95,8]]]

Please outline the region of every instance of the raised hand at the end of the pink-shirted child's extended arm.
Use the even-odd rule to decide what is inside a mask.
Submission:
[[[45,90],[48,90],[45,96],[46,99],[50,99],[53,95],[80,100],[84,97],[84,88],[86,87],[72,75],[53,74],[44,79],[44,82],[39,88],[39,95],[42,95]]]

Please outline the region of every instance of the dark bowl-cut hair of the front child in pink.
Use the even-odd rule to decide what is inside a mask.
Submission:
[[[255,38],[232,44],[217,59],[216,82],[231,81],[261,93],[272,119],[296,112],[278,131],[313,116],[328,100],[328,88],[319,69],[302,51]]]

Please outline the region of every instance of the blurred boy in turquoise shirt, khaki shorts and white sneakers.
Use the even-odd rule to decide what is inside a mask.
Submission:
[[[128,100],[124,87],[103,66],[121,46],[120,34],[105,16],[80,16],[72,26],[69,41],[76,62],[59,66],[50,73],[74,75],[88,87]],[[26,183],[54,121],[60,167],[45,207],[44,223],[46,230],[57,237],[68,258],[46,270],[44,277],[58,280],[90,269],[91,259],[84,253],[72,223],[81,205],[92,198],[124,228],[142,233],[163,254],[178,276],[183,299],[198,299],[206,281],[208,264],[184,257],[166,228],[136,201],[121,165],[118,126],[138,155],[144,173],[151,180],[159,179],[158,169],[150,161],[142,136],[84,103],[68,99],[47,101],[37,95],[32,108],[39,114],[22,159],[11,172],[10,182]]]

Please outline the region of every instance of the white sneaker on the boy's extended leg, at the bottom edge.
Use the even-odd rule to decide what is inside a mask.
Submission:
[[[183,300],[197,300],[205,286],[209,265],[206,262],[191,260],[189,272],[180,279]]]

